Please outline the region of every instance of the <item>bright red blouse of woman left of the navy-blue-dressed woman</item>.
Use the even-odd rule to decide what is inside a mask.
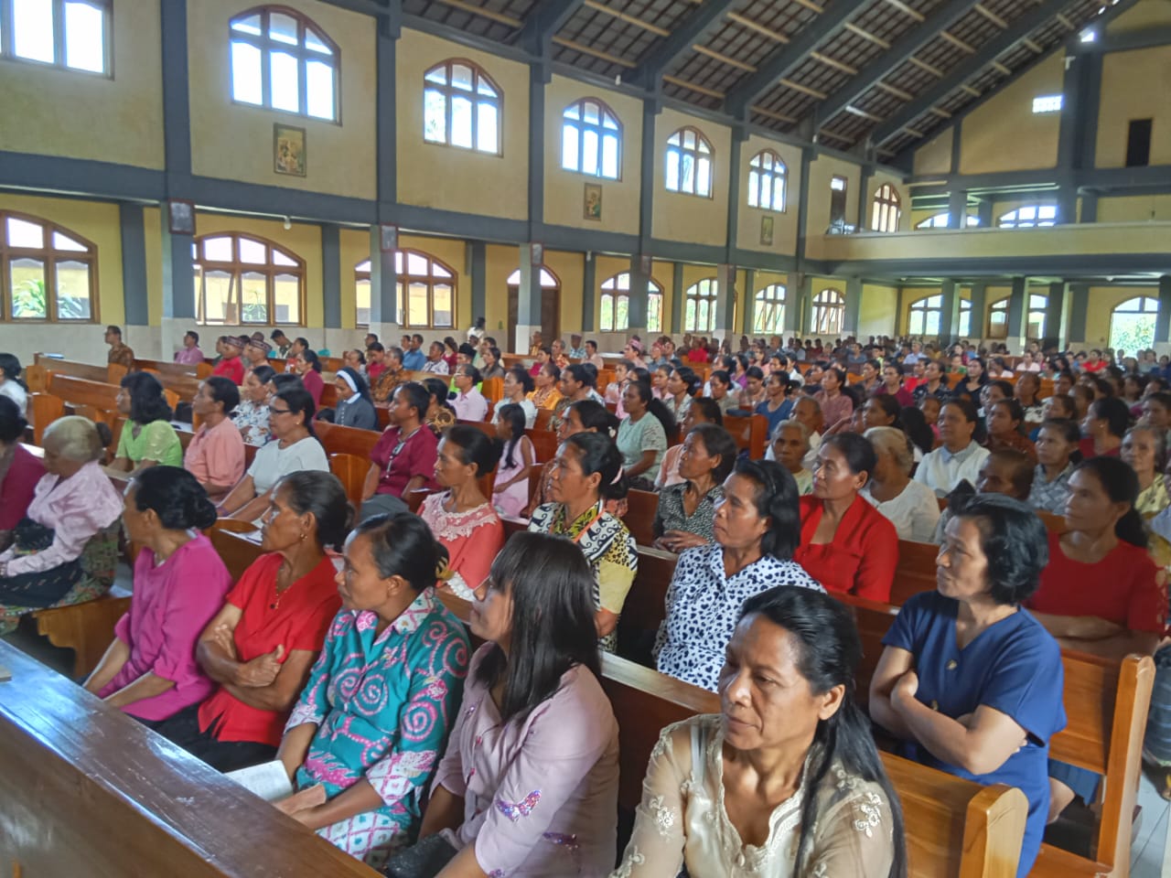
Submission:
[[[898,531],[890,520],[861,496],[837,524],[834,539],[820,546],[812,540],[821,523],[822,501],[801,498],[801,546],[793,560],[826,591],[849,592],[890,603],[890,587],[898,567]]]

